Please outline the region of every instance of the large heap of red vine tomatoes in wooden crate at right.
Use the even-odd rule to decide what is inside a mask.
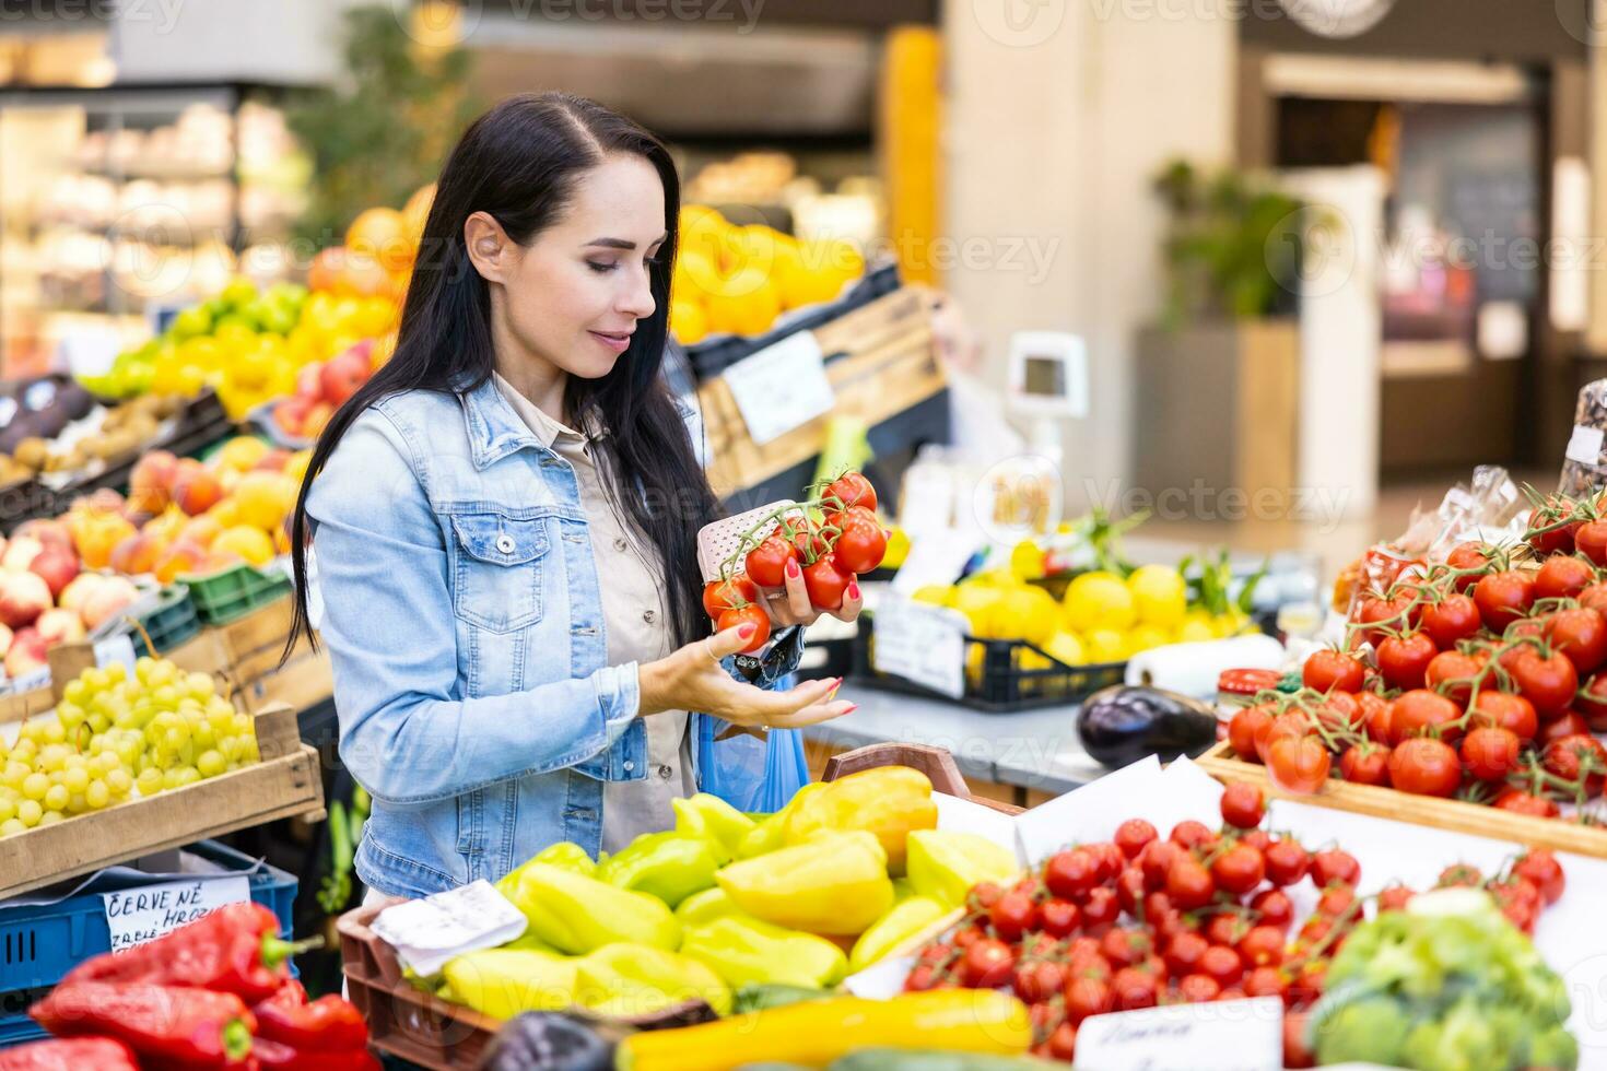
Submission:
[[[1607,520],[1552,499],[1527,543],[1520,567],[1462,543],[1364,597],[1351,649],[1313,654],[1300,692],[1234,715],[1233,750],[1297,793],[1337,776],[1546,817],[1601,795]]]

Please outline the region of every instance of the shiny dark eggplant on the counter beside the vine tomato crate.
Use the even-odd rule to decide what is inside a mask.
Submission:
[[[1216,742],[1216,715],[1188,695],[1114,684],[1083,700],[1077,735],[1083,750],[1110,769],[1151,755],[1170,763],[1202,755]]]

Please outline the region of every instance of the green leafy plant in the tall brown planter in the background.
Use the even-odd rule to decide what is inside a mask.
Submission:
[[[1300,270],[1303,202],[1250,177],[1202,175],[1175,161],[1155,178],[1170,212],[1163,323],[1249,318],[1281,312]]]

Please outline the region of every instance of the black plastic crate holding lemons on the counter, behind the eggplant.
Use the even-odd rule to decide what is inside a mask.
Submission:
[[[966,690],[955,698],[922,684],[877,673],[871,665],[874,633],[869,615],[861,615],[860,631],[853,639],[853,678],[858,682],[889,692],[943,698],[992,715],[1080,703],[1099,689],[1120,684],[1127,678],[1127,662],[1069,666],[1024,639],[967,636]],[[1022,657],[1028,652],[1046,665],[1024,666]]]

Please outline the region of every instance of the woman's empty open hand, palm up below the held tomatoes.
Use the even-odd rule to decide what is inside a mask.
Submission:
[[[696,710],[734,726],[797,729],[853,710],[853,703],[831,698],[842,684],[840,678],[807,681],[786,692],[770,692],[731,679],[720,660],[742,650],[752,629],[752,625],[728,628],[686,644],[667,658],[643,663],[638,670],[641,713]]]

